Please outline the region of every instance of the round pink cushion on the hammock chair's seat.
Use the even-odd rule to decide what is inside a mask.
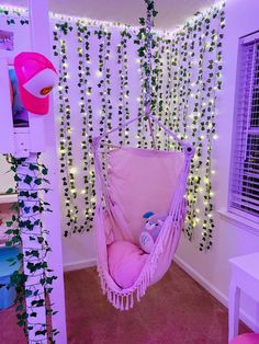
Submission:
[[[110,274],[122,288],[130,288],[136,282],[148,254],[128,241],[114,241],[108,245]]]

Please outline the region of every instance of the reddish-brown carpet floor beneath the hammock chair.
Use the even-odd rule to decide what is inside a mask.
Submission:
[[[95,268],[65,282],[69,344],[227,344],[227,309],[176,264],[128,312],[106,302]],[[26,343],[13,311],[0,311],[1,344]]]

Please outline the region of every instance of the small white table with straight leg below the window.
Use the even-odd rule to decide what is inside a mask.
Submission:
[[[229,260],[232,280],[228,301],[228,341],[238,334],[240,290],[259,303],[259,252]]]

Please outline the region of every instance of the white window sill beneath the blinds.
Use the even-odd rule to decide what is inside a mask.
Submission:
[[[252,233],[252,234],[259,237],[259,225],[258,223],[256,223],[251,220],[245,219],[244,217],[238,216],[238,215],[233,214],[233,213],[227,211],[227,210],[221,209],[221,210],[217,210],[217,213],[219,214],[221,218],[226,220],[227,222],[235,225],[235,226],[241,228],[243,230],[246,230],[249,233]]]

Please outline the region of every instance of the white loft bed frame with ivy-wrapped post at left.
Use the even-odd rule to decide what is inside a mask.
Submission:
[[[31,50],[44,54],[52,59],[48,0],[27,0],[27,5],[30,10]],[[10,53],[0,55],[0,153],[12,153],[18,158],[27,158],[31,161],[35,161],[35,153],[42,152],[42,159],[48,168],[48,180],[52,185],[52,191],[46,194],[45,200],[50,204],[53,213],[47,213],[44,216],[44,226],[49,230],[47,241],[52,248],[52,252],[48,254],[48,266],[54,270],[54,274],[57,276],[53,285],[50,302],[54,303],[55,311],[58,311],[58,313],[53,317],[52,323],[53,328],[60,332],[55,339],[56,343],[66,344],[60,200],[58,193],[59,175],[53,100],[50,100],[49,113],[46,116],[30,114],[29,128],[13,127],[8,73],[8,66],[13,60],[13,56],[9,54]],[[30,173],[30,171],[26,171],[26,173]],[[24,246],[26,245],[26,237],[27,236],[23,236],[22,238]],[[35,282],[35,277],[29,278],[26,284],[30,285],[33,282]],[[32,301],[33,298],[26,299],[27,309]],[[44,323],[45,307],[38,308],[37,317],[29,319],[29,321],[33,323]],[[29,331],[29,343],[47,343],[46,336],[40,337],[35,335],[35,329],[36,326]]]

